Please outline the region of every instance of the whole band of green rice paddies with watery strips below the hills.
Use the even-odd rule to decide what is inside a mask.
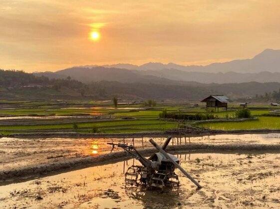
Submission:
[[[210,112],[217,119],[233,119],[238,109],[231,104],[228,111]],[[279,107],[269,104],[249,105],[258,120],[207,122],[197,127],[210,129],[280,129],[277,114],[267,116]],[[156,106],[144,106],[141,102],[127,101],[114,107],[112,101],[0,101],[0,133],[30,132],[80,132],[80,133],[126,133],[142,131],[166,131],[178,127],[178,121],[162,120],[159,114],[166,109],[174,114],[206,113],[204,104],[193,107],[183,101],[161,101]],[[209,110],[208,110],[209,111]],[[184,121],[192,125],[194,121]]]

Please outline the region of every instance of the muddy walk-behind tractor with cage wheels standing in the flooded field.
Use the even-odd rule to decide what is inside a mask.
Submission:
[[[153,139],[150,139],[150,142],[159,152],[154,153],[148,159],[139,154],[133,145],[108,143],[113,146],[112,150],[115,146],[120,147],[142,164],[141,166],[133,165],[128,168],[125,173],[125,183],[135,186],[142,185],[149,189],[160,188],[162,190],[164,187],[179,187],[179,178],[174,172],[175,168],[178,168],[198,188],[201,188],[200,184],[179,165],[179,159],[165,152],[171,139],[172,137],[169,136],[162,147]]]

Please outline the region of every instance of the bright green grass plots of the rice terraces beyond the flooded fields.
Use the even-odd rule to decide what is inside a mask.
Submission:
[[[0,103],[6,105],[8,108],[0,109],[0,115],[74,115],[74,114],[105,114],[111,115],[110,121],[88,121],[86,118],[75,119],[59,119],[53,118],[51,120],[32,120],[29,123],[38,123],[37,125],[28,125],[22,121],[20,125],[0,126],[0,133],[8,134],[15,132],[39,132],[39,131],[77,131],[77,132],[90,132],[93,127],[97,127],[101,132],[113,133],[113,132],[138,132],[138,131],[160,131],[174,128],[176,122],[168,122],[159,120],[159,113],[162,109],[167,109],[167,112],[182,114],[196,114],[206,112],[204,108],[193,108],[190,106],[184,106],[182,104],[158,104],[156,107],[145,107],[141,104],[121,104],[118,107],[112,108],[112,101],[47,101],[47,102],[29,102],[29,101],[7,101],[1,100]],[[90,107],[97,106],[98,109]],[[252,105],[253,106],[253,105]],[[79,107],[82,107],[79,109]],[[108,108],[110,107],[110,108]],[[121,109],[122,107],[134,107],[145,109]],[[280,129],[280,119],[273,116],[262,116],[269,113],[271,110],[278,109],[265,105],[254,105],[254,109],[251,110],[253,116],[257,116],[259,120],[244,121],[244,122],[217,122],[217,123],[204,123],[200,126],[208,127],[211,129]],[[257,109],[260,107],[260,109]],[[262,108],[261,108],[262,107]],[[264,109],[267,107],[267,109]],[[218,118],[230,118],[235,116],[235,109],[230,108],[229,111],[217,111],[211,112],[217,115]],[[137,120],[124,120],[122,117],[132,117]],[[17,120],[20,122],[20,120]],[[59,123],[61,122],[61,123]],[[62,123],[64,122],[64,124]],[[66,122],[66,123],[65,123]],[[4,121],[0,121],[4,124]],[[57,124],[46,124],[57,123]],[[78,125],[77,129],[73,129],[73,123]]]

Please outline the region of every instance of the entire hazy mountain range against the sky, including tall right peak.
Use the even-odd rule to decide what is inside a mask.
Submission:
[[[56,72],[34,73],[49,78],[66,78],[84,82],[116,81],[155,84],[225,84],[279,82],[280,50],[266,49],[252,59],[213,63],[207,66],[183,66],[174,63],[146,63],[76,66]],[[190,83],[191,82],[191,83]]]

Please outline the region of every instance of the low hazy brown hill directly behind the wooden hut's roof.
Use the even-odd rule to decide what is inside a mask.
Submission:
[[[278,91],[280,83],[164,85],[120,82],[96,82],[88,85],[96,95],[120,95],[142,99],[201,100],[211,94],[223,94],[231,99],[255,97]]]

